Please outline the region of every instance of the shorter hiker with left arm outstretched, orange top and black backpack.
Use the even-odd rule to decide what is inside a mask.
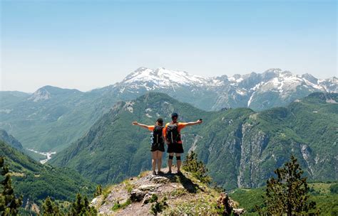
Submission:
[[[163,127],[163,119],[158,119],[155,122],[155,125],[145,125],[140,124],[138,121],[133,121],[133,125],[137,125],[140,127],[143,127],[144,129],[148,129],[149,131],[153,131],[152,135],[152,144],[151,144],[151,165],[153,167],[153,175],[160,175],[163,174],[162,171],[160,171],[160,167],[162,166],[162,154],[164,152],[164,133],[165,129]],[[156,163],[158,165],[158,173],[156,173]]]

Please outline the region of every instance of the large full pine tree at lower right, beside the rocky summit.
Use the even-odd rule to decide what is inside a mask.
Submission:
[[[291,156],[291,161],[282,168],[275,170],[277,178],[267,180],[265,208],[256,207],[260,215],[317,215],[315,202],[308,202],[309,186],[307,178],[302,178],[302,168],[297,158]]]

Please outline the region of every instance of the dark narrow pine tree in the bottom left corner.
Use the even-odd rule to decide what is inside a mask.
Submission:
[[[22,198],[16,198],[14,189],[11,186],[11,175],[9,168],[4,164],[4,157],[0,157],[2,193],[0,194],[0,215],[18,215],[19,207],[22,205]]]

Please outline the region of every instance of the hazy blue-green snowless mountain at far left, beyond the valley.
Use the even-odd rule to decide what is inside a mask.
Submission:
[[[0,99],[0,128],[36,151],[65,148],[116,102],[92,92],[51,86],[34,94],[0,92]]]

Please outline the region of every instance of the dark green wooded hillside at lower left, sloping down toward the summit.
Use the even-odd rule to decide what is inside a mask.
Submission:
[[[24,196],[24,206],[41,204],[48,196],[60,201],[73,200],[76,193],[92,196],[95,184],[70,168],[42,165],[24,153],[0,141],[0,156],[14,183],[16,195]]]

